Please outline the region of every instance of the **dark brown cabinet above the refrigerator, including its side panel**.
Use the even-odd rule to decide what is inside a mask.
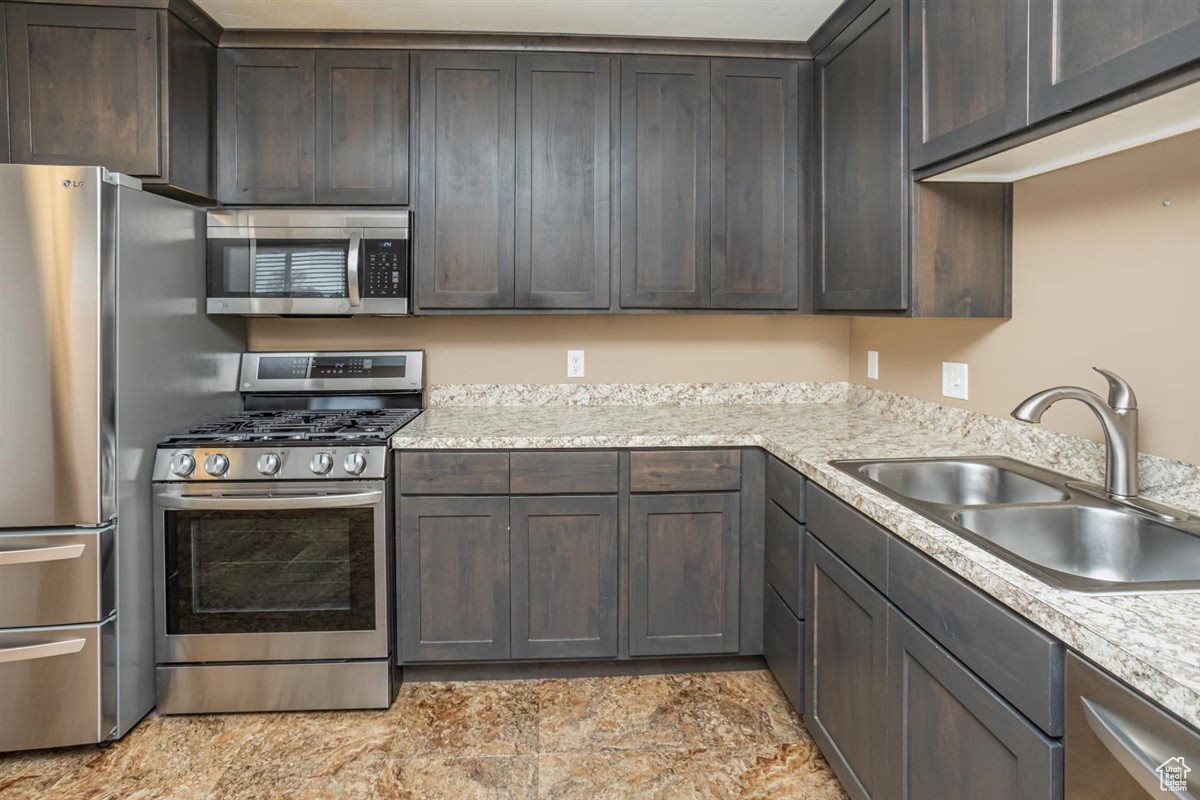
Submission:
[[[154,8],[13,2],[4,11],[8,114],[0,155],[98,164],[211,197],[209,41]]]

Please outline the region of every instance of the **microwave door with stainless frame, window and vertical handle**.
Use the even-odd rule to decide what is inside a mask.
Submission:
[[[361,228],[209,228],[210,314],[361,312]]]

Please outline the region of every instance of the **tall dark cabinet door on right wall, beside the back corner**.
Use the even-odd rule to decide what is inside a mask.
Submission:
[[[908,175],[898,0],[876,0],[816,59],[818,311],[908,306]]]

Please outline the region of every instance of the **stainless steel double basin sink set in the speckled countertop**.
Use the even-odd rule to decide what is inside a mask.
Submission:
[[[835,461],[834,467],[1061,589],[1200,590],[1200,519],[1166,518],[1004,457]]]

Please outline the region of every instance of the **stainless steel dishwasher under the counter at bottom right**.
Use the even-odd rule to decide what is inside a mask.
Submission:
[[[1074,654],[1066,751],[1067,800],[1200,799],[1200,732]]]

